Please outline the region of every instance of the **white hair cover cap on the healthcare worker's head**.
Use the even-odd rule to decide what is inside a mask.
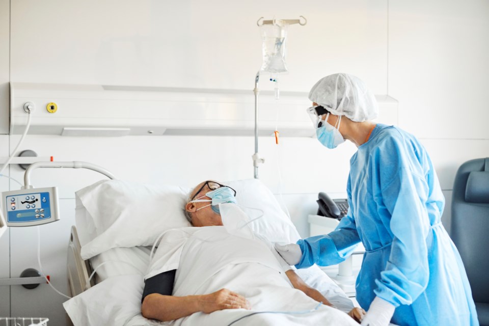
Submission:
[[[336,73],[319,79],[309,92],[309,99],[337,116],[362,122],[377,117],[375,96],[359,78]]]

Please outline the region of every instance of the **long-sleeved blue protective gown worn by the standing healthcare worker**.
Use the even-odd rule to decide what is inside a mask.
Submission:
[[[335,231],[297,241],[297,268],[338,264],[362,241],[363,308],[379,296],[396,307],[398,325],[479,324],[464,264],[440,221],[438,177],[413,135],[377,124],[350,159],[347,194],[348,214]]]

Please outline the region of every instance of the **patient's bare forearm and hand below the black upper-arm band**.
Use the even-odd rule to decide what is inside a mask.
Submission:
[[[173,296],[152,293],[144,298],[141,313],[145,318],[161,321],[174,320],[202,311],[211,313],[223,309],[250,309],[243,296],[228,289],[210,294]]]

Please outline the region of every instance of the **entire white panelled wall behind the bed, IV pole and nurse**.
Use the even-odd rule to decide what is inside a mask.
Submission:
[[[0,0],[0,6],[0,85],[9,81],[2,76],[10,68],[11,82],[251,90],[261,64],[258,18],[303,15],[307,25],[289,29],[289,74],[280,80],[282,90],[305,92],[320,77],[344,71],[364,79],[374,93],[397,99],[398,125],[417,135],[430,152],[447,204],[458,166],[489,156],[489,131],[483,125],[489,86],[485,0],[251,0],[241,6],[218,0],[13,0],[10,65],[3,46],[8,44],[8,26],[2,19],[8,17],[8,1]],[[273,85],[263,83],[263,88]],[[0,128],[8,116],[2,105]],[[18,139],[0,135],[0,156]],[[253,176],[250,137],[29,135],[22,149],[56,160],[91,161],[118,178],[142,182],[192,186],[208,178]],[[303,236],[308,235],[307,214],[316,211],[317,192],[344,196],[348,159],[354,152],[348,143],[329,151],[309,138],[282,138],[280,146],[271,138],[260,139],[260,154],[266,158],[260,178],[286,203]],[[18,167],[10,173],[22,180]],[[63,292],[73,192],[99,178],[78,170],[39,170],[32,176],[36,186],[57,185],[61,191],[62,220],[42,226],[40,232],[45,273]],[[0,178],[0,187],[18,186]],[[449,220],[447,205],[447,228]],[[36,248],[35,228],[11,229],[10,236],[0,239],[0,277],[17,277],[24,268],[36,267]],[[0,316],[40,314],[50,318],[50,325],[62,325],[62,301],[47,285],[35,290],[0,287]]]

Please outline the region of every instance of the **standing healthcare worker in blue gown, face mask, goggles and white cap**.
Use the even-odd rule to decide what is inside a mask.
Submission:
[[[478,325],[464,265],[440,221],[445,199],[425,148],[412,134],[371,121],[375,97],[355,76],[324,77],[309,99],[322,145],[346,139],[358,147],[350,159],[349,209],[335,231],[276,244],[279,253],[297,268],[328,266],[362,241],[362,325]]]

